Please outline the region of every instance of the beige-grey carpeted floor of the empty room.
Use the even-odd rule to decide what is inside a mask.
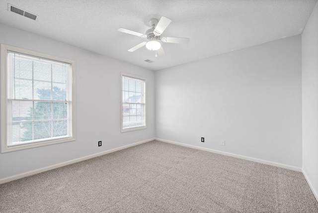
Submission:
[[[318,213],[303,174],[152,141],[0,185],[1,213]]]

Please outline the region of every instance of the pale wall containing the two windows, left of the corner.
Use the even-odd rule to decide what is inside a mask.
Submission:
[[[0,154],[0,179],[155,137],[153,71],[3,24],[0,43],[76,61],[77,128],[76,141]],[[147,129],[120,132],[120,72],[147,78]]]

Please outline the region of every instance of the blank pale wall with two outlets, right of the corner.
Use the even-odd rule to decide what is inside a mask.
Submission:
[[[301,60],[298,35],[157,71],[156,137],[301,168]]]

